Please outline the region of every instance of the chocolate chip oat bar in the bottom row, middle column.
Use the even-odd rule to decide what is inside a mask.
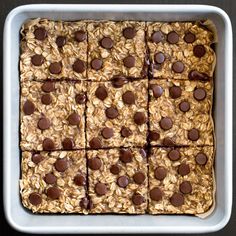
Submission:
[[[147,159],[143,149],[87,151],[91,213],[144,214]]]

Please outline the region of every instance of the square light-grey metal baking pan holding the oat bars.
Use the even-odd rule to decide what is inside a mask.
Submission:
[[[215,76],[216,208],[195,216],[34,215],[20,202],[19,30],[29,18],[191,21],[211,19],[219,43]],[[4,28],[4,207],[8,222],[31,233],[199,233],[223,228],[232,205],[232,29],[227,14],[205,5],[26,5],[12,10]]]

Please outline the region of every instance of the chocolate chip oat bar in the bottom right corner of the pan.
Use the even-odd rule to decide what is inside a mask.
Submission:
[[[214,148],[152,148],[150,214],[200,214],[213,204]]]

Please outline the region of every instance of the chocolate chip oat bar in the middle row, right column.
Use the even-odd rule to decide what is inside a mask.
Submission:
[[[213,145],[212,82],[151,80],[151,145]]]

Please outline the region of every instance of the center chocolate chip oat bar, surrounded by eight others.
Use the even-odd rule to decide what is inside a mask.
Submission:
[[[142,147],[147,136],[148,81],[88,82],[87,147]],[[117,81],[116,81],[117,82]]]

